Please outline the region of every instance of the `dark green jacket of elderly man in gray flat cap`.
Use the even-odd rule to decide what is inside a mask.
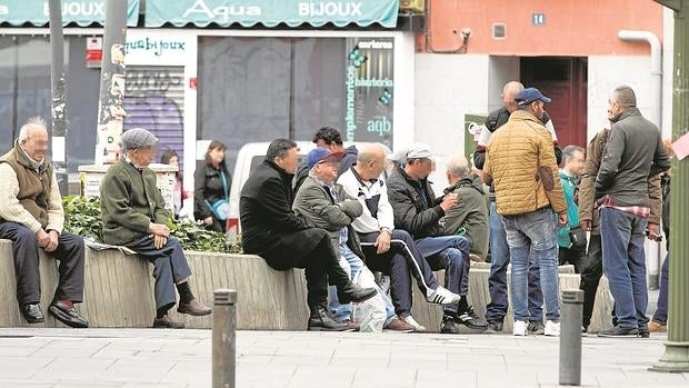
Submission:
[[[156,172],[137,169],[126,160],[112,165],[100,185],[103,241],[127,245],[148,235],[150,222],[172,218],[156,186]]]

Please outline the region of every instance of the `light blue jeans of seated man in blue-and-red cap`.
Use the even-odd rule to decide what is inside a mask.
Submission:
[[[349,275],[349,279],[353,282],[357,282],[359,273],[365,270],[363,261],[359,258],[355,252],[349,249],[347,246],[340,246],[340,266],[344,269],[344,271]],[[392,300],[385,294],[378,285],[376,285],[376,289],[378,290],[378,295],[382,298],[383,304],[386,305],[386,322],[383,327],[388,326],[392,319],[395,319],[395,306],[392,306]],[[343,321],[347,319],[351,319],[351,312],[353,311],[352,304],[340,305],[338,301],[338,289],[334,286],[328,287],[328,308],[332,312],[334,320]]]

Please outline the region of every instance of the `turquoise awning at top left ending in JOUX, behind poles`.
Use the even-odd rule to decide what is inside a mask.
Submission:
[[[108,0],[62,0],[62,24],[77,23],[81,27],[106,22],[106,3]],[[3,0],[0,3],[0,24],[36,27],[48,24],[50,19],[48,0]],[[139,0],[129,0],[127,26],[137,26],[139,21]]]

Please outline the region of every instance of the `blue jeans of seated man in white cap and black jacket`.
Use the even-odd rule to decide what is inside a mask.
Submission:
[[[461,236],[426,237],[419,239],[417,249],[423,255],[431,269],[445,269],[445,287],[460,296],[469,292],[469,240]],[[447,305],[445,312],[457,314],[458,305]]]

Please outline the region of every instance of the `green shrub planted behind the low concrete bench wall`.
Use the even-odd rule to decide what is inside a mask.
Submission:
[[[64,230],[82,237],[90,237],[98,242],[103,241],[103,220],[100,212],[100,199],[84,197],[62,198],[64,208]],[[241,240],[230,242],[223,233],[208,230],[201,222],[186,220],[167,222],[170,235],[179,239],[186,250],[206,252],[241,253]]]

